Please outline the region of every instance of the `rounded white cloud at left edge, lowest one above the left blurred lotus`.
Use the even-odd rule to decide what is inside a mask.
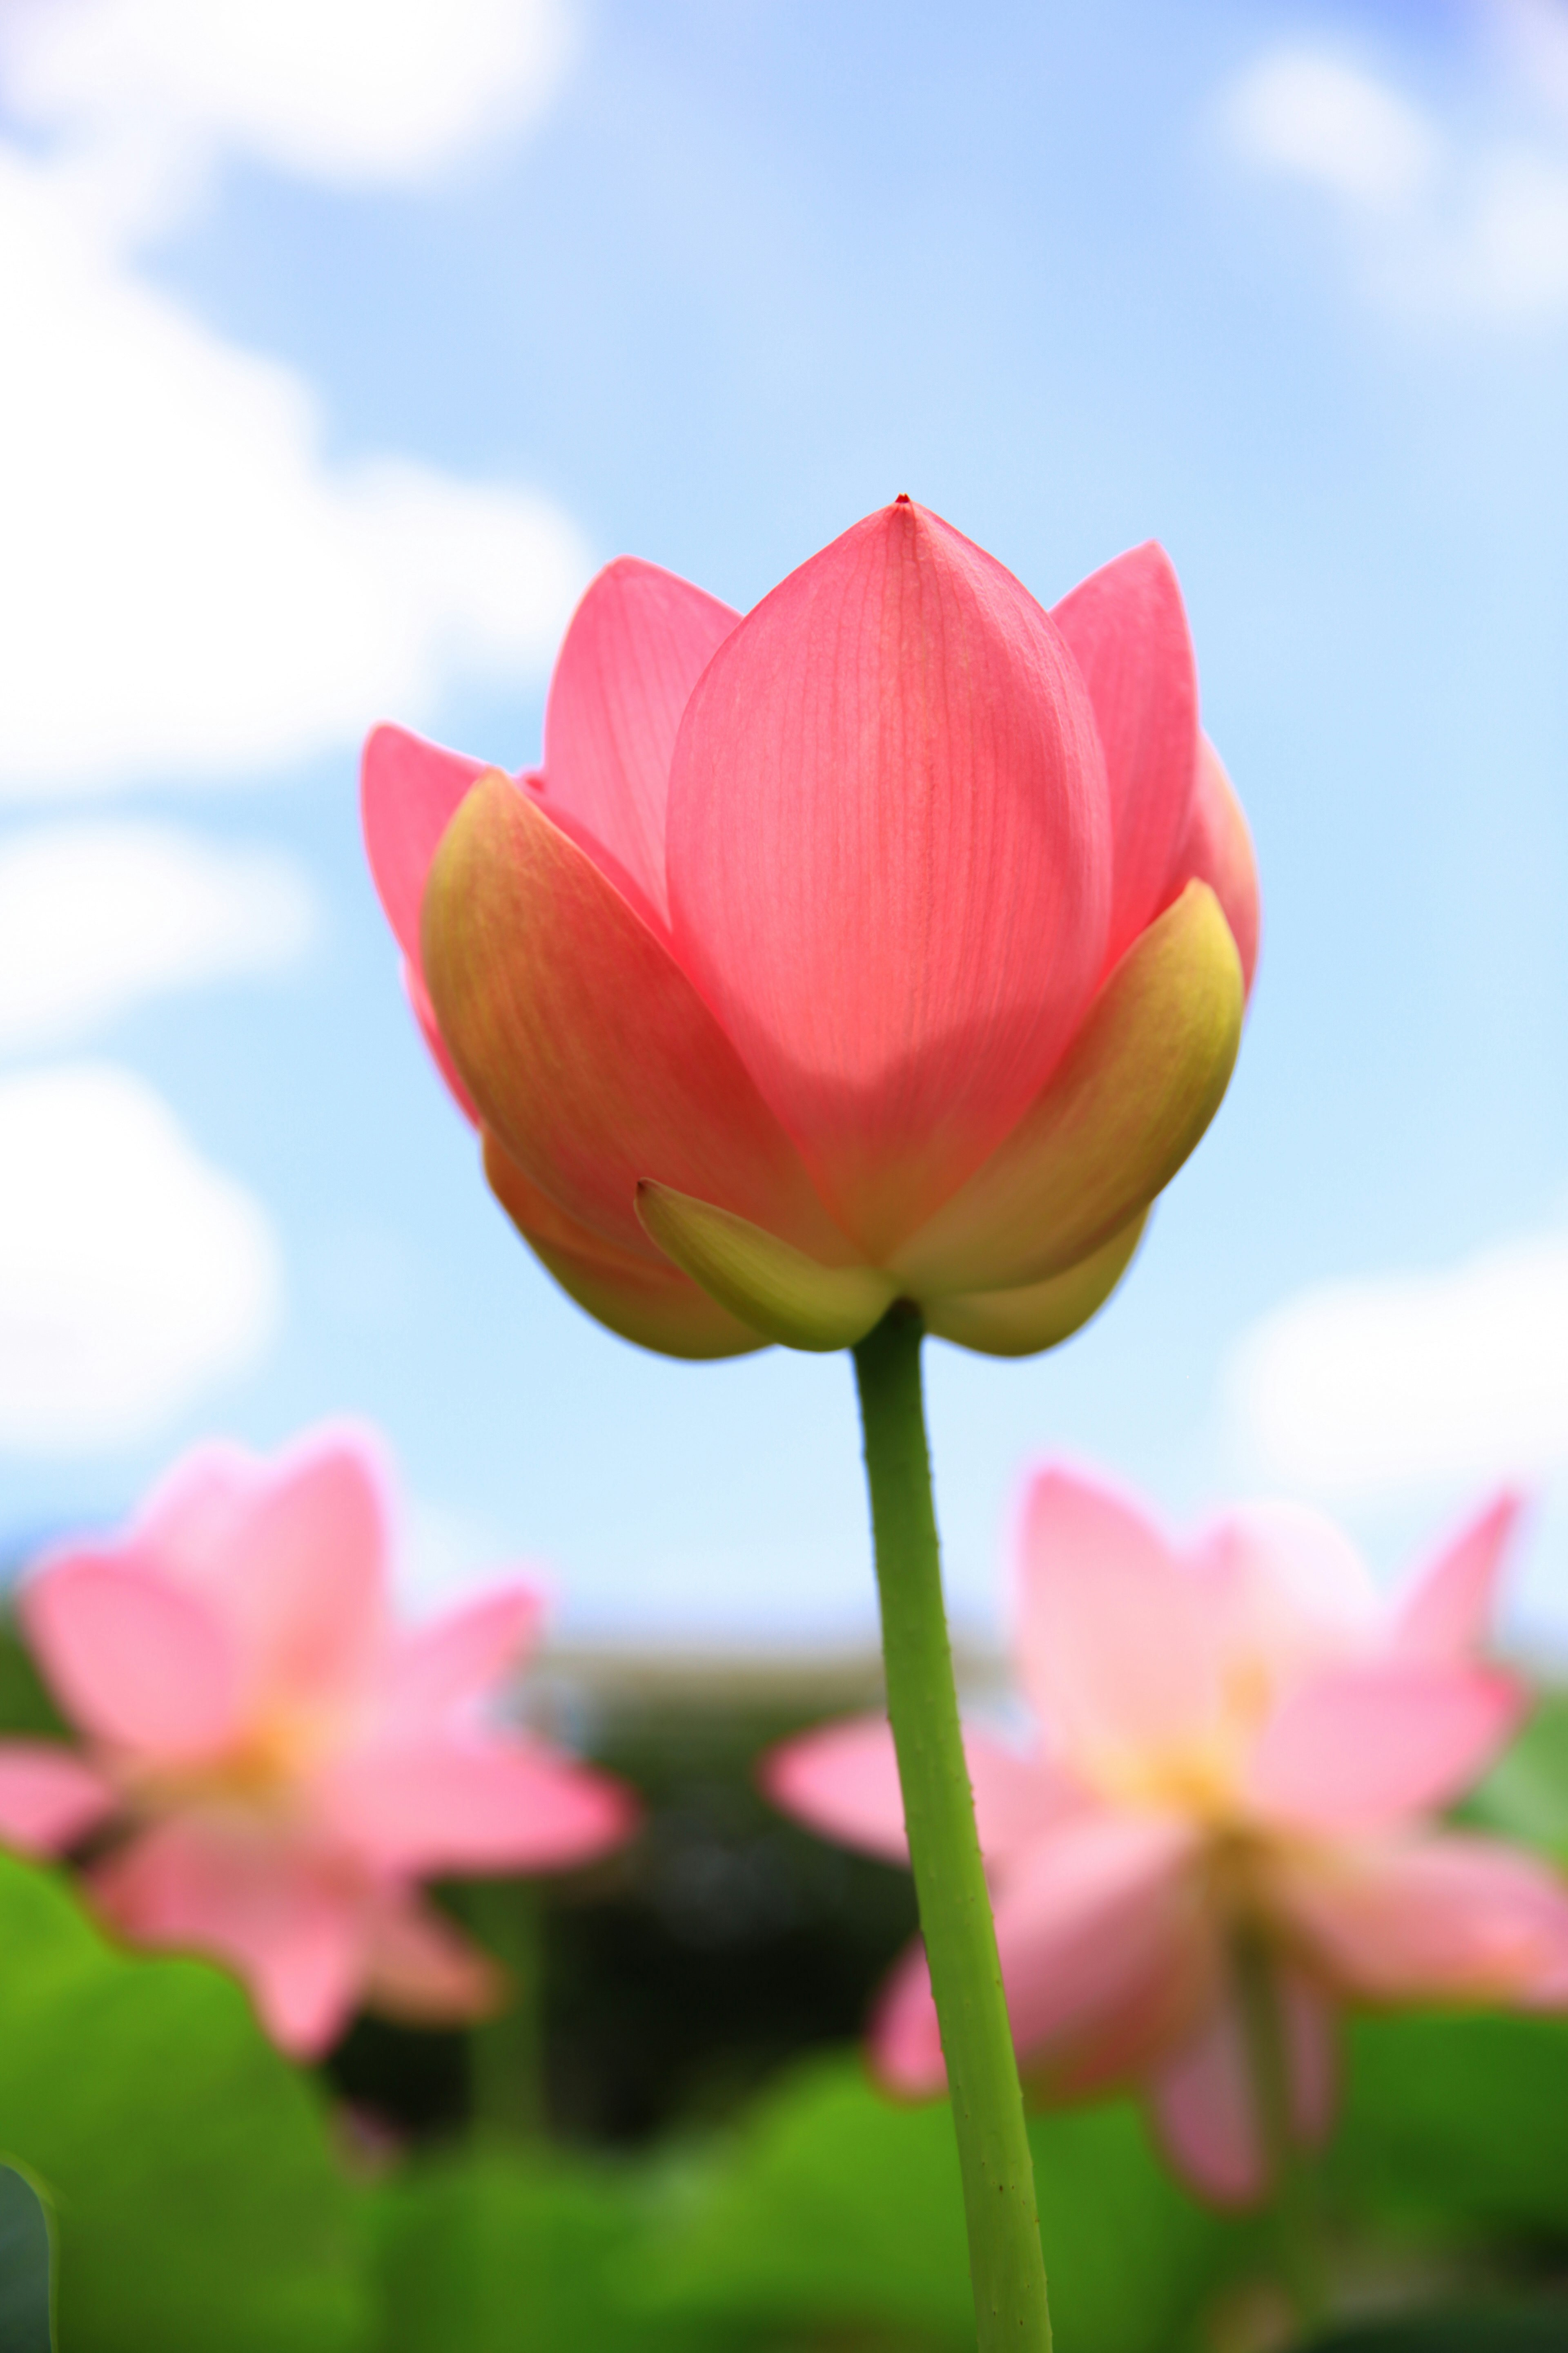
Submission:
[[[266,1348],[266,1214],[129,1071],[0,1082],[0,1447],[153,1438]]]

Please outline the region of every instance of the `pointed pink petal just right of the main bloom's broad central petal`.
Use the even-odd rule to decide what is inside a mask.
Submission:
[[[1093,704],[1112,812],[1112,915],[1105,965],[1171,899],[1192,824],[1199,689],[1182,593],[1152,539],[1100,565],[1051,609]],[[1185,878],[1182,878],[1185,880]]]

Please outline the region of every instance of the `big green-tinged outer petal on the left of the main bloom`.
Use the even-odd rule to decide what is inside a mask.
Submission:
[[[425,979],[463,1080],[524,1176],[656,1261],[639,1176],[823,1261],[851,1252],[679,965],[503,776],[463,802],[425,892]]]

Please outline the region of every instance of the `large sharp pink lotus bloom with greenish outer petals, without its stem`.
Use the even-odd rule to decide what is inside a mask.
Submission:
[[[1164,553],[1046,614],[907,499],[745,619],[614,562],[543,774],[381,727],[364,835],[496,1195],[670,1355],[898,1297],[1065,1339],[1220,1104],[1258,944]]]

